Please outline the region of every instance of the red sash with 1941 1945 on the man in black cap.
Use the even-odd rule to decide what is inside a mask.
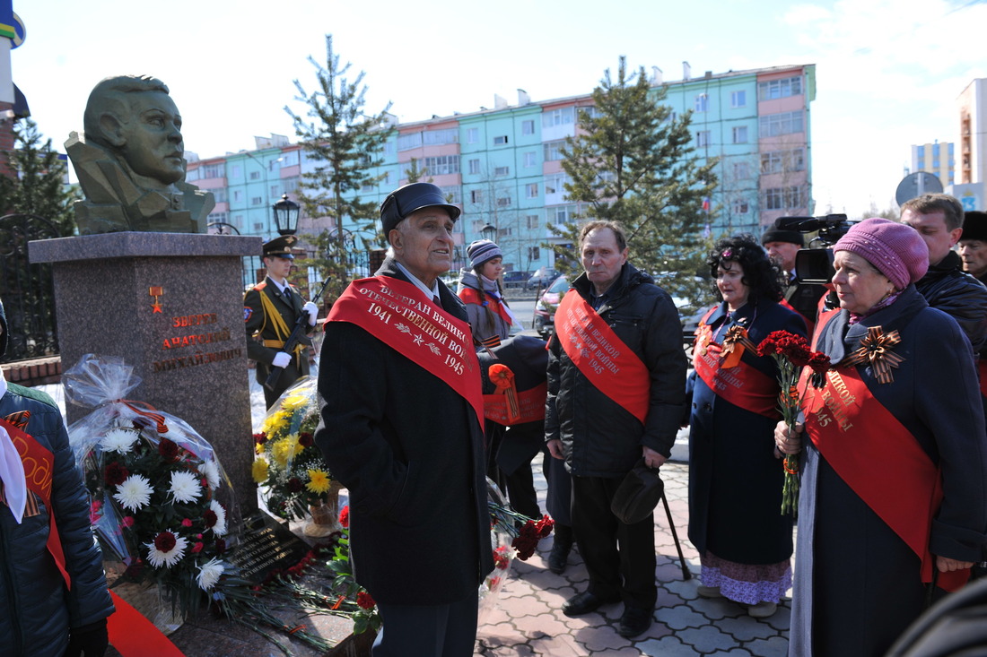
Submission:
[[[426,300],[416,285],[389,276],[354,280],[333,304],[327,321],[364,329],[441,379],[473,406],[483,426],[480,363],[470,325]]]

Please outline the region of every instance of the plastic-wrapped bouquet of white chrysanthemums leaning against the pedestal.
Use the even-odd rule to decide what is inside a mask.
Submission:
[[[69,441],[111,588],[124,599],[156,589],[159,606],[171,609],[145,616],[174,624],[230,571],[223,560],[237,513],[230,481],[187,422],[126,398],[140,379],[122,359],[86,354],[62,381],[68,401],[93,408],[69,427]]]

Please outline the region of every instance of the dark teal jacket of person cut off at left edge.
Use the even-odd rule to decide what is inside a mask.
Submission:
[[[107,592],[103,555],[89,524],[89,496],[75,467],[61,413],[42,393],[8,384],[0,399],[0,417],[20,410],[31,411],[25,431],[54,455],[52,508],[45,508],[38,498],[40,513],[18,525],[0,503],[0,653],[61,657],[70,627],[107,618],[114,605]],[[52,512],[72,578],[69,591],[46,547]]]

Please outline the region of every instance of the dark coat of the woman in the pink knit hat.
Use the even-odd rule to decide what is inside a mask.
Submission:
[[[897,418],[942,468],[945,497],[933,519],[930,547],[979,561],[987,532],[987,446],[973,352],[956,323],[928,308],[909,286],[891,306],[848,326],[840,311],[818,348],[838,362],[868,327],[897,329],[904,361],[894,381],[878,384],[856,366],[876,401]],[[853,430],[847,432],[852,438]],[[874,464],[880,468],[880,464]],[[874,657],[923,610],[919,557],[802,439],[792,657]]]

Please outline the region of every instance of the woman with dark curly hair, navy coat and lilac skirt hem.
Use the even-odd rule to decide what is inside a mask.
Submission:
[[[775,458],[778,366],[756,345],[773,330],[805,334],[781,306],[780,271],[750,235],[707,258],[721,303],[696,330],[689,388],[689,540],[702,564],[699,594],[767,618],[792,586],[792,518]]]

